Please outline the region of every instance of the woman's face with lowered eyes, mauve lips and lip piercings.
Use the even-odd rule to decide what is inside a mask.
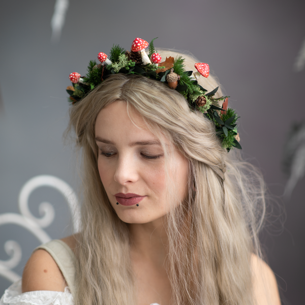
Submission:
[[[170,208],[164,151],[141,116],[132,109],[129,113],[134,123],[125,101],[113,102],[100,111],[95,126],[98,168],[118,217],[126,223],[143,224],[161,219]],[[170,161],[170,178],[178,197],[184,199],[188,194],[188,161],[176,149]]]

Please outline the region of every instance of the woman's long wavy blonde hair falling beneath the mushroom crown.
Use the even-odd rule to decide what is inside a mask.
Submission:
[[[178,53],[168,51],[168,55]],[[162,54],[164,57],[164,54]],[[184,55],[184,57],[186,57]],[[194,60],[189,56],[187,65]],[[191,64],[190,64],[191,63]],[[201,84],[214,89],[217,81]],[[70,110],[70,127],[83,154],[82,231],[76,304],[134,305],[128,226],[112,209],[98,168],[95,121],[110,103],[123,100],[147,128],[165,137],[189,161],[189,194],[166,217],[166,268],[177,305],[254,304],[250,258],[260,254],[264,183],[256,169],[222,148],[210,120],[189,108],[167,85],[139,75],[107,78]],[[163,142],[167,160],[170,149]],[[168,164],[170,160],[168,160]],[[218,172],[226,165],[225,181]],[[176,198],[168,178],[168,196]]]

